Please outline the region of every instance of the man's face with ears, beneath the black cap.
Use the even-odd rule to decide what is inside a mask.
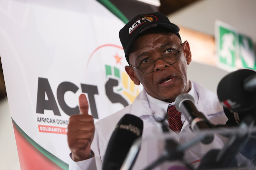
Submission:
[[[134,84],[141,83],[148,95],[167,102],[175,101],[179,94],[190,90],[187,65],[191,63],[191,53],[188,42],[185,41],[181,45],[181,40],[174,33],[148,32],[134,41],[129,55],[130,64],[138,67],[144,58],[156,60],[171,48],[177,51],[181,49],[178,53],[179,59],[172,65],[162,59],[157,60],[151,73],[143,73],[140,69],[125,66]]]

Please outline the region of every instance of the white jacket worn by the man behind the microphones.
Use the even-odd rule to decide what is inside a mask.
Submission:
[[[196,99],[197,102],[195,103],[197,109],[205,114],[205,116],[213,124],[225,124],[228,119],[223,112],[223,106],[219,103],[216,94],[205,89],[196,82],[191,82],[193,83],[193,87],[195,88],[195,92],[198,97]],[[133,114],[143,120],[143,139],[148,137],[157,138],[157,136],[160,136],[160,134],[162,134],[162,131],[159,128],[159,123],[156,122],[152,116],[152,111],[148,106],[146,92],[143,89],[132,104],[95,123],[96,131],[93,143],[91,145],[91,150],[94,151],[95,156],[93,158],[80,162],[71,161],[71,163],[69,164],[69,169],[100,170],[102,168],[105,150],[108,146],[108,141],[112,135],[112,132],[118,121],[125,114]],[[189,128],[189,123],[186,120],[183,124],[179,136],[177,136],[179,144],[190,141],[192,138],[194,138],[195,136],[193,136],[192,134],[193,133]],[[214,142],[212,142],[210,145],[204,145],[202,143],[199,143],[197,146],[187,150],[185,152],[184,158],[188,163],[196,167],[198,166],[198,163],[200,162],[200,159],[203,157],[203,155],[211,148],[222,148],[224,146],[223,140],[225,139],[215,136]],[[162,150],[160,149],[162,148],[162,146],[163,145],[159,140],[147,140],[147,142],[143,142],[133,169],[143,169],[150,163],[152,163],[158,156],[162,154]],[[169,163],[166,163],[158,167],[158,169],[166,169],[170,166],[171,164],[169,165]]]

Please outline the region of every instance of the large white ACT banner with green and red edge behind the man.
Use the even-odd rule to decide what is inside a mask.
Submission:
[[[0,55],[21,169],[68,169],[67,125],[81,93],[97,121],[142,89],[124,70],[118,33],[127,19],[99,2],[1,1]]]

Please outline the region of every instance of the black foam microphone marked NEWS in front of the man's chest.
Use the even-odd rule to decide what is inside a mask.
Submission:
[[[143,121],[140,118],[130,114],[124,115],[111,135],[105,152],[102,170],[119,170],[132,143],[142,136],[142,131]],[[131,167],[136,157],[131,163]]]

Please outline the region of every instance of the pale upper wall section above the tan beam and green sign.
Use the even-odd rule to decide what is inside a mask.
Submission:
[[[256,43],[255,0],[201,0],[168,16],[178,26],[214,35],[219,19],[250,36]]]

